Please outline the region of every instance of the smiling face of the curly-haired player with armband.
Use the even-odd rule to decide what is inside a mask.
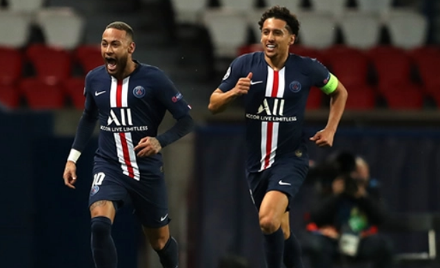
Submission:
[[[289,46],[294,43],[294,35],[286,28],[286,21],[269,18],[261,28],[261,43],[269,58],[285,55],[289,52]]]

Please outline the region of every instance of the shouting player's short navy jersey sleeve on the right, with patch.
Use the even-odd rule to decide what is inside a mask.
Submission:
[[[189,114],[191,106],[188,105],[183,95],[172,81],[161,70],[157,70],[154,74],[155,88],[154,92],[157,99],[165,105],[166,109],[170,111],[174,119],[179,119]]]

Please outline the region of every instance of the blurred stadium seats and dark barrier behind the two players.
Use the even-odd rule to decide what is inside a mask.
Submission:
[[[310,146],[310,158],[361,154],[392,212],[437,214],[440,1],[0,0],[0,267],[92,267],[87,198],[96,137],[78,163],[77,190],[64,187],[61,176],[83,108],[83,78],[102,63],[101,33],[111,21],[126,21],[135,59],[170,75],[198,125],[163,150],[181,267],[218,267],[232,255],[263,268],[243,181],[241,103],[216,117],[207,104],[230,61],[261,49],[257,21],[275,4],[301,21],[292,52],[319,59],[349,91],[334,148]],[[307,109],[312,133],[326,123],[328,99],[312,89]],[[162,129],[172,123],[167,117]],[[306,183],[294,201],[296,232],[303,231],[310,191]],[[119,267],[160,267],[129,207],[114,229]],[[426,232],[439,223],[419,229],[394,237],[397,253],[437,259],[436,239]],[[430,262],[412,267],[440,267]]]

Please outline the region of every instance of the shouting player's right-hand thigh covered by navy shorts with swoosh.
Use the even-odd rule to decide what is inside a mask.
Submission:
[[[130,184],[134,214],[143,227],[158,229],[168,225],[168,194],[163,174],[144,176]]]

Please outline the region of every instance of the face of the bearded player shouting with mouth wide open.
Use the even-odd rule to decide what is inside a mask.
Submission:
[[[103,32],[101,54],[110,75],[118,76],[126,69],[131,46],[132,41],[125,31],[110,28]]]

